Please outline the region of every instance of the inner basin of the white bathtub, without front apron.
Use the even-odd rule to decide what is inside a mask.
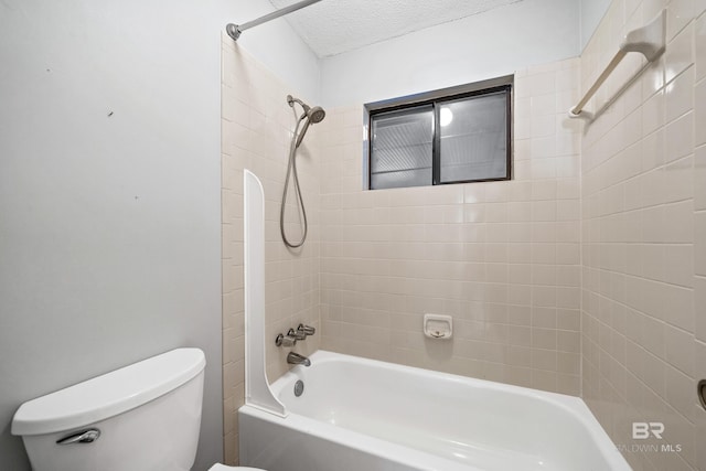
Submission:
[[[312,362],[272,385],[290,414],[480,469],[611,469],[576,397],[328,352]]]

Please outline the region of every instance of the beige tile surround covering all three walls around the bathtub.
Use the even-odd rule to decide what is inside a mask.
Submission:
[[[579,83],[592,84],[622,34],[663,7],[665,55],[617,95],[642,66],[630,54],[588,108],[617,100],[590,124],[568,120]],[[302,353],[320,342],[582,390],[637,470],[706,470],[706,413],[695,394],[706,377],[705,9],[704,0],[614,0],[580,60],[517,72],[510,182],[364,191],[362,105],[329,109],[299,160],[312,223],[300,255],[284,248],[278,228],[292,90],[224,42],[226,462],[237,462],[243,403],[248,168],[266,190],[268,338],[321,320],[322,336]],[[453,315],[454,339],[425,339],[426,312]],[[287,370],[282,353],[269,346],[270,378]],[[664,440],[650,443],[681,451],[633,451],[633,421],[664,422]]]

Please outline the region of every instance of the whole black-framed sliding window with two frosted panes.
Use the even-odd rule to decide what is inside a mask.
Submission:
[[[510,180],[512,76],[366,105],[371,190]]]

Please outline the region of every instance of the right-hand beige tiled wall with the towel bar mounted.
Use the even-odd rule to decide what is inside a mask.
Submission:
[[[585,125],[582,393],[635,470],[706,470],[706,2],[614,0],[581,84],[665,7],[666,53]],[[630,54],[589,109],[643,63]],[[633,421],[664,422],[663,439],[633,440]]]

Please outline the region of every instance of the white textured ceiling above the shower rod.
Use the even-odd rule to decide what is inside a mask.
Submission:
[[[269,0],[275,8],[299,0]],[[285,18],[319,57],[522,0],[322,0]]]

